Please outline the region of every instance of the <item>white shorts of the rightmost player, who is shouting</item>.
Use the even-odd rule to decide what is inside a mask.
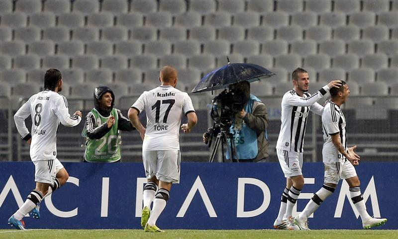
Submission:
[[[357,176],[354,165],[349,160],[344,162],[323,162],[325,165],[324,182],[338,184],[340,179]]]

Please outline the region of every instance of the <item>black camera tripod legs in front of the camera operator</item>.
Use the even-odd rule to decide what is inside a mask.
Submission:
[[[228,139],[229,139],[229,143],[228,143]],[[214,161],[214,157],[217,154],[217,149],[218,149],[218,146],[220,145],[220,143],[221,143],[222,161],[223,162],[226,161],[226,158],[224,156],[224,144],[226,144],[227,151],[230,156],[229,160],[231,160],[231,162],[239,162],[239,159],[234,159],[235,156],[237,156],[237,155],[236,155],[236,146],[235,146],[235,142],[233,139],[233,135],[223,128],[221,128],[220,132],[217,134],[217,137],[215,137],[214,146],[211,151],[210,159],[208,161],[209,162]],[[211,142],[210,142],[210,144],[211,144]]]

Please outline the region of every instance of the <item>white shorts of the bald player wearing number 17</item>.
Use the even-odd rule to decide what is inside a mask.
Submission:
[[[142,151],[146,178],[156,176],[164,182],[180,182],[180,150]]]

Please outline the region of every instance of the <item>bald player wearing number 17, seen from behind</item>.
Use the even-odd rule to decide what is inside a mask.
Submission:
[[[177,79],[176,69],[163,67],[159,77],[161,85],[144,91],[128,111],[130,121],[143,140],[142,159],[148,179],[144,186],[141,217],[145,232],[163,232],[156,226],[156,220],[166,207],[172,183],[180,181],[182,113],[188,118],[188,123],[181,126],[184,133],[189,133],[198,121],[189,95],[175,88]],[[138,118],[143,110],[147,116],[146,128]]]

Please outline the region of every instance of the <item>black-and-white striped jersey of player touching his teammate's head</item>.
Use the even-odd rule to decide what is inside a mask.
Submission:
[[[313,95],[305,92],[303,96],[299,96],[294,89],[285,93],[282,98],[282,125],[277,149],[303,152],[309,111],[322,115],[323,106],[316,101],[322,98],[328,90],[329,86],[325,85]]]

